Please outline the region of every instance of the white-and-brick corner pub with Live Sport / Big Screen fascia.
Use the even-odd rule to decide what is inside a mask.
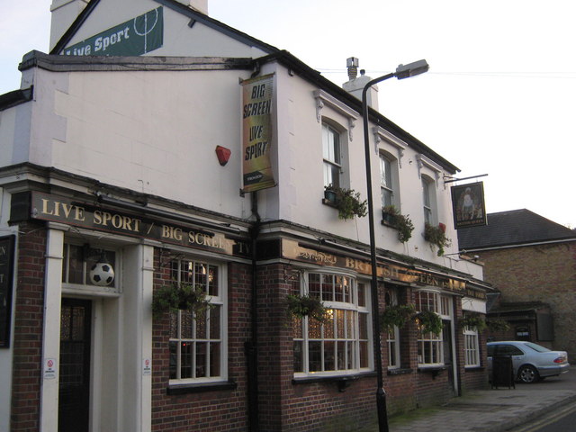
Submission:
[[[377,421],[379,370],[388,415],[487,384],[458,168],[370,91],[373,295],[367,76],[352,59],[341,88],[207,6],[54,0],[49,54],[0,95],[0,430],[354,430]]]

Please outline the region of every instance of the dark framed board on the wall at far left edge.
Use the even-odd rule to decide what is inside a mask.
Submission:
[[[0,238],[0,348],[10,347],[14,236]]]

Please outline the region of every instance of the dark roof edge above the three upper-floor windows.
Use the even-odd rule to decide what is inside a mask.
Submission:
[[[270,54],[266,57],[255,58],[254,62],[257,66],[260,64],[265,64],[273,61],[278,61],[285,67],[292,68],[294,72],[299,73],[302,78],[310,81],[312,84],[320,86],[323,90],[326,90],[332,96],[338,98],[340,101],[347,103],[347,105],[362,115],[362,101],[360,101],[353,94],[348,93],[339,85],[334,84],[328,78],[320,75],[320,72],[311,68],[299,58],[296,58],[289,51],[283,49]],[[412,148],[415,148],[423,155],[433,159],[440,166],[445,168],[448,172],[455,174],[460,170],[457,166],[446,160],[446,158],[441,157],[432,148],[429,148],[426,144],[421,142],[419,139],[410,135],[406,130],[401,129],[396,123],[392,122],[390,119],[386,118],[380,112],[375,111],[372,108],[368,108],[369,119],[373,121],[375,125],[382,127],[384,130],[392,132],[394,136],[402,139]]]

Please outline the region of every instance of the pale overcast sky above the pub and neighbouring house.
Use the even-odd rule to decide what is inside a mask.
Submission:
[[[0,0],[0,94],[49,50],[51,0]],[[486,210],[527,209],[576,228],[572,0],[208,0],[212,18],[286,49],[338,85],[425,58],[379,85],[380,112],[461,169],[485,175]],[[451,184],[447,184],[449,187]]]

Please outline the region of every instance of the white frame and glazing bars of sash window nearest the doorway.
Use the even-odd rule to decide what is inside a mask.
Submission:
[[[216,268],[218,270],[218,293],[217,295],[210,295],[208,294],[206,296],[206,299],[209,300],[211,302],[212,305],[214,305],[215,308],[218,308],[220,311],[220,337],[219,338],[211,338],[210,336],[210,319],[211,319],[211,315],[213,314],[213,307],[210,309],[208,309],[206,311],[207,314],[207,321],[206,321],[206,334],[207,334],[207,338],[197,338],[195,337],[195,335],[193,335],[190,338],[184,338],[182,335],[182,317],[183,314],[185,313],[185,311],[176,311],[176,312],[170,312],[170,321],[172,322],[173,319],[176,320],[176,335],[173,338],[172,335],[170,335],[170,338],[168,339],[168,345],[170,345],[171,343],[175,343],[176,344],[176,362],[175,362],[175,378],[170,378],[169,379],[169,384],[170,385],[175,385],[175,384],[185,384],[185,383],[219,383],[219,382],[223,382],[223,381],[227,381],[228,380],[228,281],[226,278],[227,272],[226,272],[226,266],[223,264],[219,264],[216,262],[212,262],[210,260],[206,260],[206,259],[202,259],[202,258],[196,258],[196,257],[184,257],[184,258],[180,258],[180,259],[175,259],[173,260],[172,264],[177,262],[178,264],[182,264],[184,262],[189,262],[189,263],[193,263],[193,275],[192,275],[192,280],[195,281],[195,273],[196,273],[196,265],[203,265],[206,266],[206,269],[210,269],[210,267],[212,268]],[[209,278],[208,278],[209,273],[206,274],[206,281],[208,284],[210,284]],[[181,283],[181,282],[188,282],[188,281],[183,281],[182,280],[182,272],[178,271],[176,274],[176,283]],[[207,288],[208,290],[210,290],[210,288]],[[193,321],[193,329],[196,328],[196,323],[195,323],[195,318],[192,319]],[[172,330],[170,330],[172,331]],[[208,371],[206,372],[207,375],[209,375],[211,373],[210,371],[210,366],[211,366],[211,353],[210,353],[210,345],[211,344],[215,344],[215,343],[219,343],[220,344],[220,362],[219,362],[219,368],[220,368],[220,374],[217,376],[201,376],[201,377],[181,377],[181,373],[182,373],[182,344],[186,343],[186,342],[190,342],[193,344],[193,347],[196,346],[196,344],[200,343],[202,345],[206,346],[206,351],[204,353],[204,355],[206,356],[206,365],[208,368]],[[172,354],[169,354],[170,356],[170,360],[171,360],[171,356]],[[196,371],[196,356],[195,356],[195,350],[193,349],[193,354],[192,354],[192,365],[191,365],[191,370],[193,371],[193,374],[195,374]]]

